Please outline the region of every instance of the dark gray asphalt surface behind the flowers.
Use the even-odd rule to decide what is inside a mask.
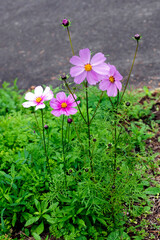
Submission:
[[[134,87],[160,87],[160,0],[1,0],[0,84],[13,82],[57,86],[68,73],[72,56],[63,18],[70,28],[75,53],[82,48],[109,55],[126,78],[142,35],[131,76]]]

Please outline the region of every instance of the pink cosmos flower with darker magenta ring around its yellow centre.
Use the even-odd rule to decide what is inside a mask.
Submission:
[[[74,98],[77,98],[75,94]],[[75,102],[74,98],[72,94],[67,97],[64,92],[57,93],[56,98],[52,98],[50,101],[50,106],[54,109],[51,113],[56,117],[62,114],[67,116],[75,114],[77,109],[74,107],[76,107],[80,101]]]

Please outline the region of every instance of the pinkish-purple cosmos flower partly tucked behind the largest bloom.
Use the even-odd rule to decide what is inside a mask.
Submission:
[[[122,83],[120,81],[123,79],[123,77],[117,71],[115,66],[109,64],[109,67],[110,70],[108,74],[103,77],[102,81],[99,84],[99,88],[102,91],[107,90],[107,95],[109,97],[115,97],[117,96],[117,88],[119,91],[122,89]]]

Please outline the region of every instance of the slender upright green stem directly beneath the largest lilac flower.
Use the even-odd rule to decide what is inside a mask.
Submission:
[[[91,158],[91,139],[90,139],[90,121],[89,121],[89,107],[88,107],[88,82],[86,81],[86,111],[87,111],[87,127],[88,127],[88,155],[90,158],[91,172],[93,173],[93,161]]]

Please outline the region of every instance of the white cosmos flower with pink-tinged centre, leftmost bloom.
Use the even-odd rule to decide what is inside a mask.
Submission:
[[[43,88],[38,86],[35,88],[34,93],[28,92],[25,95],[25,99],[28,102],[24,102],[22,105],[25,108],[34,107],[36,106],[35,110],[45,108],[44,101],[51,100],[53,98],[53,92],[50,90],[49,87],[43,92]]]

